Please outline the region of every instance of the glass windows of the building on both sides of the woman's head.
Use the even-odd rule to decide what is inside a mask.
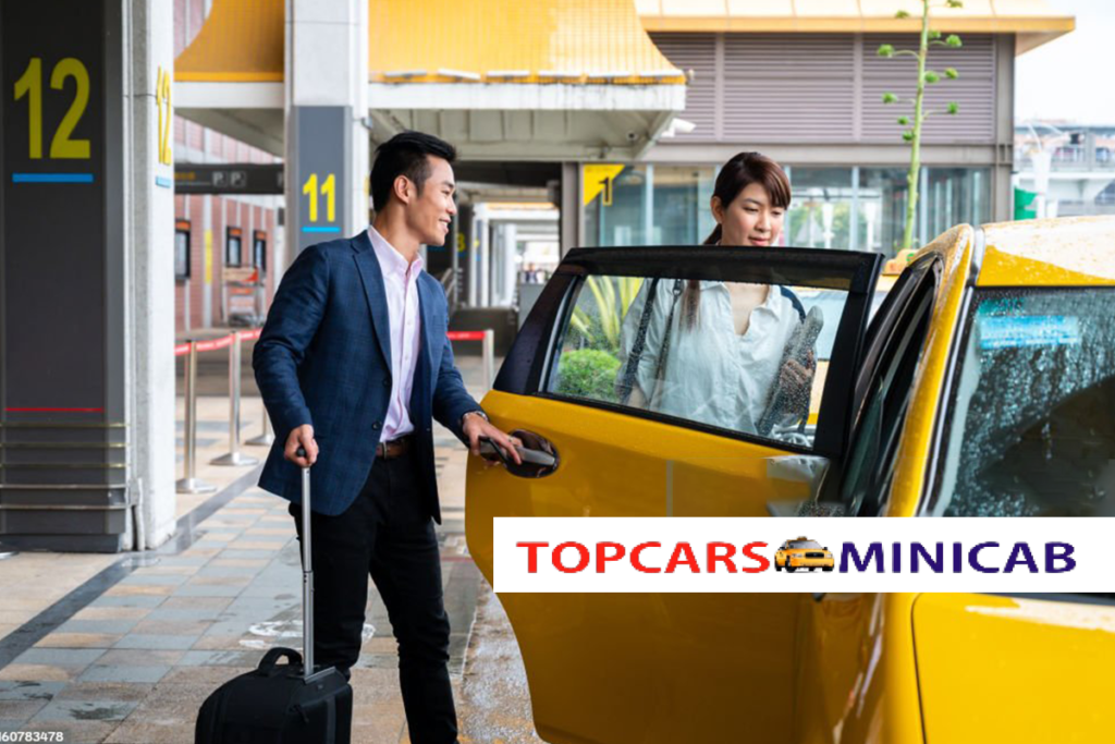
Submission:
[[[700,243],[716,224],[709,211],[716,173],[710,165],[626,167],[610,194],[584,206],[585,245]],[[898,252],[909,199],[905,168],[788,165],[786,173],[793,201],[780,244]],[[923,167],[919,191],[917,245],[991,216],[989,168]]]

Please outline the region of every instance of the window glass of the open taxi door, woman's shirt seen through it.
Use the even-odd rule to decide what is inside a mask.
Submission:
[[[547,390],[808,447],[846,297],[590,277]]]

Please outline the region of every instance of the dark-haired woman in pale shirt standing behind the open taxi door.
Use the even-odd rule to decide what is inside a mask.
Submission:
[[[789,180],[777,163],[758,153],[736,155],[716,178],[717,225],[705,243],[774,245],[789,199]],[[778,286],[647,282],[623,322],[620,399],[748,434],[804,423],[812,340],[805,341],[805,364],[785,358],[804,319],[801,301]]]

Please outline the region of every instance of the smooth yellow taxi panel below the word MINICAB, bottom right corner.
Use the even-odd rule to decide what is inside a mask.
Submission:
[[[1111,738],[1109,600],[922,595],[913,629],[927,744]]]

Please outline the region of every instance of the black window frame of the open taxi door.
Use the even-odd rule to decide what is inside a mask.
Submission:
[[[496,377],[494,389],[614,410],[705,431],[717,436],[755,442],[791,452],[834,457],[846,441],[846,418],[853,383],[863,348],[875,279],[882,257],[824,249],[760,249],[720,245],[574,249],[562,261],[535,302],[515,339],[507,360]],[[579,291],[590,276],[653,279],[699,279],[749,281],[791,287],[816,287],[847,292],[837,326],[833,355],[822,395],[813,447],[793,445],[768,437],[733,432],[680,419],[651,410],[603,400],[570,398],[547,392],[562,341],[569,328]]]

